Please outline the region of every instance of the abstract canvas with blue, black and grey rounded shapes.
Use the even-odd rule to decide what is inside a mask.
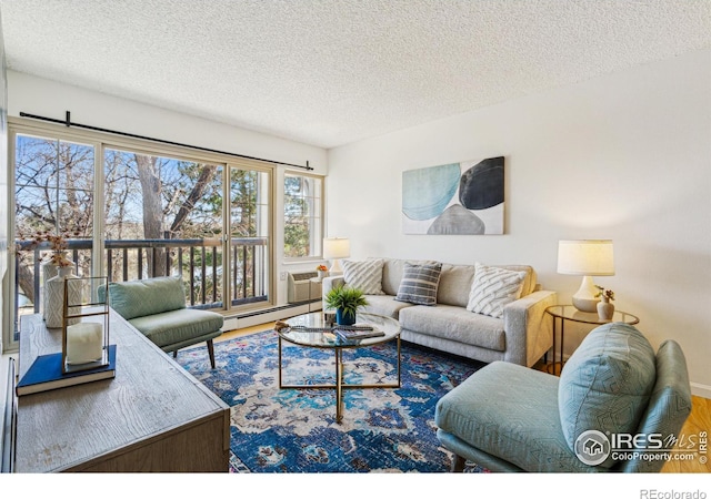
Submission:
[[[503,156],[402,172],[405,234],[503,234]]]

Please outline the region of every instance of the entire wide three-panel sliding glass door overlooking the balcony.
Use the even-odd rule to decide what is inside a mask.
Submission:
[[[80,276],[181,275],[187,306],[273,305],[273,165],[22,120],[9,131],[12,332],[20,315],[42,312],[49,246],[33,243],[38,234],[63,235]],[[321,181],[304,184],[314,181],[320,200]],[[17,347],[6,330],[3,343]]]

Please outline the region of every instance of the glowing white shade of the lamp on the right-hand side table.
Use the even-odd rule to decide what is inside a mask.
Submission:
[[[570,275],[614,275],[612,241],[559,241],[558,273]]]

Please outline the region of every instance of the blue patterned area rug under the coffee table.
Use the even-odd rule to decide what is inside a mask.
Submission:
[[[333,350],[283,343],[282,381],[334,380]],[[231,407],[232,472],[444,472],[437,401],[483,364],[402,343],[401,388],[348,389],[341,424],[332,389],[279,389],[274,332],[183,349],[178,363]],[[395,342],[343,352],[348,383],[397,381]],[[481,471],[469,467],[468,471]]]

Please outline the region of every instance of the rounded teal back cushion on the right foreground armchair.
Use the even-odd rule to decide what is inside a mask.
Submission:
[[[570,357],[560,377],[558,408],[571,450],[588,430],[634,434],[657,378],[655,357],[633,326],[597,327]],[[600,466],[611,467],[611,458]]]

